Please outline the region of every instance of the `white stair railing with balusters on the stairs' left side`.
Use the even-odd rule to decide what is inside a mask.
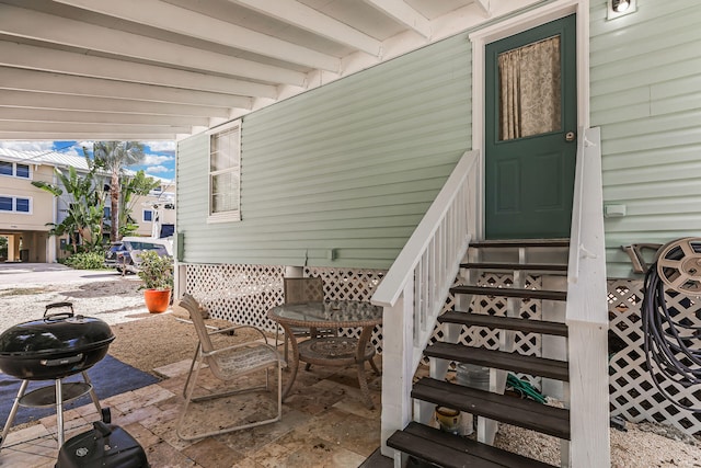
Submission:
[[[462,255],[476,232],[479,151],[467,151],[372,295],[382,306],[382,454],[386,441],[412,420],[414,373],[443,310]]]

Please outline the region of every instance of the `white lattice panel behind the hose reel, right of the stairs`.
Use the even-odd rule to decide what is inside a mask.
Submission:
[[[611,414],[628,421],[656,421],[673,425],[690,435],[701,434],[701,413],[692,413],[675,407],[655,387],[645,363],[644,335],[641,306],[643,304],[642,281],[609,281],[608,303],[610,330],[620,339],[623,347],[609,362],[609,391]],[[667,293],[668,308],[678,312],[676,320],[687,318],[692,323],[699,304],[691,298]],[[701,386],[683,388],[675,383],[665,383],[663,388],[678,400],[701,407]]]

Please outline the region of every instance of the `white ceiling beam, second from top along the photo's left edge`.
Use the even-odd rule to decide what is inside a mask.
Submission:
[[[0,41],[0,65],[225,94],[277,98],[277,89],[269,84],[74,54],[7,41]]]

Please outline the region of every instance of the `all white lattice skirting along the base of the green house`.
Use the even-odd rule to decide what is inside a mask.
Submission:
[[[283,304],[284,273],[284,266],[188,264],[186,292],[212,310],[216,318],[275,331],[275,323],[268,320],[265,313],[272,307]],[[369,300],[384,273],[381,270],[304,270],[304,275],[321,276],[324,279],[324,295],[331,300]],[[487,275],[482,282],[492,286],[509,287],[510,279],[503,275]],[[528,287],[540,287],[540,278],[536,276],[529,276],[527,283]],[[643,300],[642,281],[609,281],[608,299],[610,329],[625,343],[625,347],[610,359],[611,414],[621,415],[631,422],[662,422],[687,434],[701,434],[701,414],[680,410],[665,400],[646,370],[640,318]],[[455,298],[448,297],[445,310],[451,309],[453,304]],[[690,318],[698,309],[697,305],[685,296],[668,297],[668,305],[681,313],[688,313]],[[487,298],[476,306],[483,313],[504,315],[506,310],[506,303],[499,298]],[[539,300],[522,303],[521,317],[540,316]],[[342,334],[357,338],[359,330],[344,330]],[[432,340],[438,340],[441,335],[443,329],[437,327]],[[487,329],[464,329],[460,340],[473,346],[498,347],[498,336]],[[375,329],[371,342],[378,352],[382,351],[381,327]],[[542,351],[540,336],[532,333],[517,333],[516,347],[519,353],[536,356],[540,356]],[[540,387],[538,378],[522,375],[519,377]],[[666,387],[671,395],[686,398],[690,406],[701,406],[701,388],[685,389],[676,384],[667,384]]]

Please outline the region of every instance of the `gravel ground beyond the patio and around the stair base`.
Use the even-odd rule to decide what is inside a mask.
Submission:
[[[192,324],[177,320],[173,312],[149,313],[139,284],[135,276],[111,272],[83,275],[56,269],[43,275],[23,275],[0,267],[0,332],[41,318],[49,303],[69,300],[76,313],[97,317],[112,327],[116,339],[110,354],[127,364],[152,372],[192,358],[197,343]],[[627,430],[611,430],[612,467],[701,468],[697,438],[662,424],[628,423]],[[495,445],[559,465],[558,441],[542,434],[502,424]]]

